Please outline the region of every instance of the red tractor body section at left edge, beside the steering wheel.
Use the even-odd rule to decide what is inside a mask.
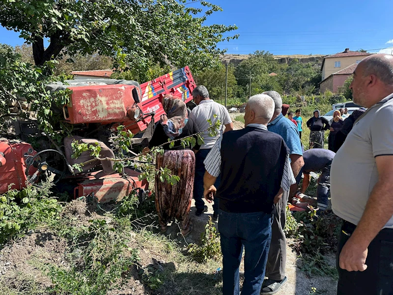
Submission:
[[[25,171],[27,165],[24,155],[34,155],[35,153],[31,145],[27,143],[0,141],[0,194],[7,192],[8,186],[12,183],[12,189],[21,190],[26,187]],[[30,169],[36,170],[32,166],[30,166]]]

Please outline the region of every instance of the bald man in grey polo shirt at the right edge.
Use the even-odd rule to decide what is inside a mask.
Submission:
[[[332,208],[343,219],[337,294],[393,294],[393,56],[363,59],[349,88],[368,110],[331,168]]]

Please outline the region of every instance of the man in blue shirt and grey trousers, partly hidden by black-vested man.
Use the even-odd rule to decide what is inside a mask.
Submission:
[[[281,113],[282,99],[277,91],[265,91],[263,94],[273,98],[275,112],[272,120],[267,125],[271,132],[281,135],[289,148],[289,158],[293,175],[296,177],[304,165],[303,150],[300,142],[298,128]],[[296,185],[296,184],[295,184]],[[282,194],[280,201],[275,204],[272,224],[272,240],[270,242],[269,256],[266,265],[267,280],[263,282],[261,294],[274,294],[286,282],[286,238],[284,227],[286,222],[286,204],[288,203],[289,190]]]

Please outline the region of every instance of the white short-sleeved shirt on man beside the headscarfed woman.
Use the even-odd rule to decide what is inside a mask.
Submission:
[[[208,119],[210,119],[213,124],[214,122],[216,122],[216,120],[220,119],[221,125],[220,129],[218,130],[217,136],[209,136],[208,131],[204,131],[202,134],[204,144],[201,145],[200,148],[213,148],[216,141],[224,133],[224,125],[232,122],[228,110],[225,108],[225,106],[215,102],[214,100],[207,99],[202,100],[199,105],[197,105],[193,109],[193,113],[197,118],[197,125],[200,131],[207,130],[207,128],[210,127],[210,124],[207,121]],[[217,117],[214,118],[214,115],[217,115]]]

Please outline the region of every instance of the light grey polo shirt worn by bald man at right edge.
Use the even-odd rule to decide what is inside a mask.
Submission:
[[[393,93],[369,108],[354,124],[331,168],[334,213],[357,225],[378,181],[375,157],[393,155]],[[393,229],[393,217],[384,228]]]

